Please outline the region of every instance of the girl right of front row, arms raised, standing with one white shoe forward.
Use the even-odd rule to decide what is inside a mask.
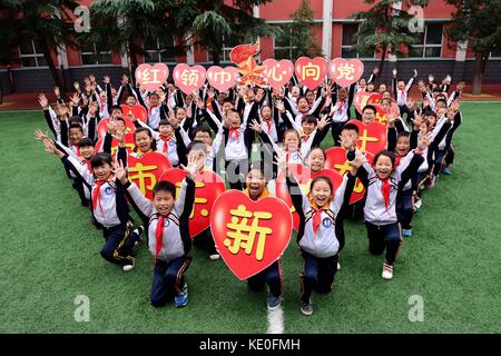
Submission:
[[[374,157],[372,167],[364,161],[362,169],[357,169],[357,177],[366,188],[364,218],[369,250],[373,255],[381,255],[386,249],[382,273],[384,279],[393,278],[393,264],[401,245],[395,211],[399,184],[406,181],[418,170],[426,146],[426,138],[422,138],[418,148],[402,159],[397,167],[393,152],[383,150]]]

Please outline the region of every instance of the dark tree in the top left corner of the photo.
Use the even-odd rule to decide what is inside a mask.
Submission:
[[[52,51],[61,44],[78,48],[72,31],[72,21],[68,11],[78,7],[71,0],[3,0],[0,3],[0,42],[6,49],[0,62],[19,62],[18,46],[23,40],[37,43],[49,67],[56,86],[65,91],[61,72],[52,59]]]

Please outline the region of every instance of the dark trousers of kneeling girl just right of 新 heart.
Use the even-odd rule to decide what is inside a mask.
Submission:
[[[310,301],[313,290],[328,293],[337,271],[337,255],[318,258],[312,254],[301,250],[304,259],[303,273],[301,275],[301,300]]]

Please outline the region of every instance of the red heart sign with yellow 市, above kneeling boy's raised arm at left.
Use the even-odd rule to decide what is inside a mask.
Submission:
[[[127,160],[129,180],[134,181],[148,199],[153,199],[153,188],[164,171],[173,167],[168,158],[160,152],[148,152],[141,158],[128,156]]]

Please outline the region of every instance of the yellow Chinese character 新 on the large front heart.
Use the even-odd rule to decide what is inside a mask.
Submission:
[[[228,247],[228,250],[234,255],[238,254],[240,248],[245,249],[245,254],[250,255],[256,235],[258,235],[256,259],[262,260],[266,235],[269,235],[273,231],[268,227],[261,227],[259,219],[271,219],[272,214],[267,211],[255,211],[253,214],[247,211],[243,205],[239,205],[236,209],[229,210],[229,214],[233,216],[232,222],[226,224],[226,227],[232,231],[226,233],[227,238],[224,240],[225,246]],[[248,219],[253,217],[252,224],[247,225]],[[239,218],[242,218],[242,220],[239,220]]]

